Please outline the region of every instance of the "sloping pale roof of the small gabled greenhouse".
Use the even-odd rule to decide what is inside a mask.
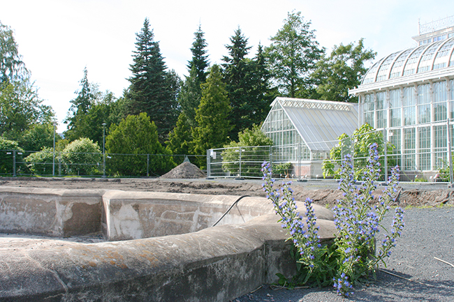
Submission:
[[[277,103],[312,152],[330,151],[342,133],[351,135],[358,128],[358,104],[276,98],[271,106]]]

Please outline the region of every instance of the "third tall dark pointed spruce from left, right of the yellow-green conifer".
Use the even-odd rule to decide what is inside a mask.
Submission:
[[[250,110],[249,93],[252,90],[251,82],[251,60],[246,56],[251,49],[247,46],[247,38],[238,28],[235,35],[230,37],[230,45],[226,45],[228,56],[224,56],[222,66],[224,68],[224,82],[230,98],[232,111],[230,112],[230,123],[233,129],[230,132],[232,139],[237,139],[238,132],[249,128],[252,122],[249,119]]]

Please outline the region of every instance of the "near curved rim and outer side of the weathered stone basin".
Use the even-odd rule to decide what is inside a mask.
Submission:
[[[286,232],[275,216],[258,219],[133,241],[0,245],[0,299],[228,301],[294,273]]]

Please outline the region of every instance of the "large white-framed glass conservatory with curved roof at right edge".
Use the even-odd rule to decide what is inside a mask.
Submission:
[[[413,37],[417,47],[379,60],[360,86],[349,91],[358,96],[358,123],[386,133],[409,180],[436,174],[448,160],[454,118],[453,30]]]

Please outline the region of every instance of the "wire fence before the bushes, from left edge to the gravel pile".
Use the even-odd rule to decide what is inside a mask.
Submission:
[[[156,177],[184,160],[196,165],[206,162],[205,155],[0,150],[0,175]]]

